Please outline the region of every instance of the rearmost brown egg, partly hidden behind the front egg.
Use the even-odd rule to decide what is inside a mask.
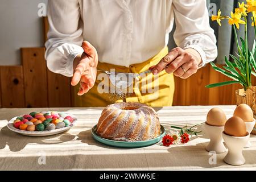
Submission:
[[[254,121],[253,110],[251,110],[251,107],[247,104],[237,106],[234,110],[234,116],[242,118],[244,122]]]

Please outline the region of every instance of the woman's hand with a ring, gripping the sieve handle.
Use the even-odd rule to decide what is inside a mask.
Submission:
[[[150,69],[152,69],[154,75],[166,69],[167,73],[174,73],[175,76],[180,78],[188,78],[197,72],[201,61],[201,56],[195,49],[188,48],[184,50],[176,47]]]

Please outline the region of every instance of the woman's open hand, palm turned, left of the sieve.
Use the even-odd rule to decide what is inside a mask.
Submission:
[[[87,93],[94,85],[97,75],[98,54],[96,49],[89,42],[82,43],[84,53],[75,58],[73,63],[74,75],[71,85],[75,86],[80,82],[79,96]]]

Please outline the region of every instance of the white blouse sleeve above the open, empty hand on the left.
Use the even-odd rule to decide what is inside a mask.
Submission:
[[[48,21],[47,67],[52,72],[71,77],[73,60],[84,52],[79,1],[49,0]]]

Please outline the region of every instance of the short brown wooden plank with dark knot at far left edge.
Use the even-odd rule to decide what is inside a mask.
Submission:
[[[24,107],[22,66],[0,67],[2,107]]]

